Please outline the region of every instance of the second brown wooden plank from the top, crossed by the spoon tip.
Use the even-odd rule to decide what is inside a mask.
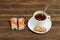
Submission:
[[[0,4],[0,9],[44,9],[46,5]],[[49,9],[60,9],[60,5],[50,5]]]

